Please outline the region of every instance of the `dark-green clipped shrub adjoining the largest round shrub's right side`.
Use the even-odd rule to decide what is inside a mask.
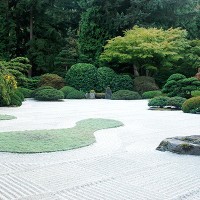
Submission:
[[[109,67],[100,67],[97,69],[97,86],[96,91],[102,92],[111,85],[116,73]]]

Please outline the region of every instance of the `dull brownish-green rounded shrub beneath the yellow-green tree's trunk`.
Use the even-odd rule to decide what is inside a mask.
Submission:
[[[139,76],[134,79],[134,90],[143,94],[147,91],[158,90],[154,78],[149,76]]]

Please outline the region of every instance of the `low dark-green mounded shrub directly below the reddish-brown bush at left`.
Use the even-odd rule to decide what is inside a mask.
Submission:
[[[56,89],[43,89],[35,94],[35,99],[39,101],[58,101],[64,99],[64,94]]]

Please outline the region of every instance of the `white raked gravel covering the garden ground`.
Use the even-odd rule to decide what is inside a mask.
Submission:
[[[0,153],[0,200],[200,200],[200,157],[159,152],[167,137],[199,135],[200,115],[150,111],[146,100],[26,100],[0,108],[17,119],[0,132],[73,127],[108,118],[123,127],[91,146],[54,153]]]

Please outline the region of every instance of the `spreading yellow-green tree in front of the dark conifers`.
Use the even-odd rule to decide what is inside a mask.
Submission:
[[[176,29],[140,28],[125,31],[108,41],[100,60],[105,63],[126,63],[132,67],[134,76],[145,71],[154,74],[159,67],[171,68],[183,58],[185,49],[190,47],[187,32]]]

